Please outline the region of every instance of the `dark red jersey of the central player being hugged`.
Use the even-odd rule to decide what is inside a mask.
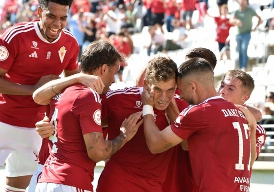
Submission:
[[[142,111],[143,88],[131,87],[110,91],[102,100],[103,115],[108,119],[108,139],[119,135],[120,126],[130,114]],[[175,98],[187,107],[183,100]],[[169,126],[165,111],[154,108],[154,119],[158,128]],[[144,127],[140,126],[135,136],[123,148],[113,154],[101,173],[97,192],[160,192],[165,180],[174,148],[163,153],[152,154],[147,146]]]

